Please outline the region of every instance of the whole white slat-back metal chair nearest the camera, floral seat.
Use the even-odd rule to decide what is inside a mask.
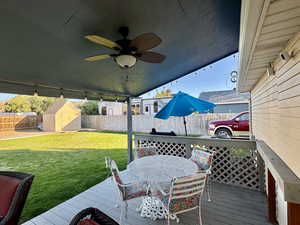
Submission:
[[[202,225],[201,196],[206,176],[205,172],[199,172],[191,176],[173,178],[170,191],[166,193],[161,190],[158,193],[158,198],[167,210],[168,225],[170,225],[170,219],[176,219],[179,222],[178,214],[197,208],[199,208],[199,224]]]

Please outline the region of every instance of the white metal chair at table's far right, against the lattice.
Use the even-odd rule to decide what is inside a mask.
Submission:
[[[192,156],[190,160],[195,162],[198,166],[198,169],[200,172],[206,172],[207,173],[207,200],[210,202],[211,201],[211,189],[212,189],[212,184],[210,180],[211,176],[211,169],[212,169],[212,164],[213,164],[213,159],[214,159],[215,152],[210,151],[208,149],[194,149],[192,151]]]

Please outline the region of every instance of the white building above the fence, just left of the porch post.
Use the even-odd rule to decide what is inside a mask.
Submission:
[[[121,116],[127,111],[127,105],[122,102],[100,101],[98,107],[99,114],[103,116]]]

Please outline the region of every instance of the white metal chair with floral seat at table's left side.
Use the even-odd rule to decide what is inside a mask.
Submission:
[[[127,201],[134,198],[146,196],[148,194],[148,184],[146,183],[124,184],[120,177],[118,166],[114,160],[110,161],[110,169],[111,169],[113,180],[118,188],[120,200],[125,205],[124,208],[121,207],[121,215],[120,215],[120,225],[121,225],[124,213],[125,213],[125,218],[127,218],[127,208],[128,208]]]

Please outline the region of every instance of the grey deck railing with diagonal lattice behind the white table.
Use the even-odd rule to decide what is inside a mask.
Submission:
[[[211,179],[215,182],[264,191],[265,166],[256,142],[235,139],[135,135],[135,146],[153,146],[158,154],[189,158],[194,148],[216,152]]]

